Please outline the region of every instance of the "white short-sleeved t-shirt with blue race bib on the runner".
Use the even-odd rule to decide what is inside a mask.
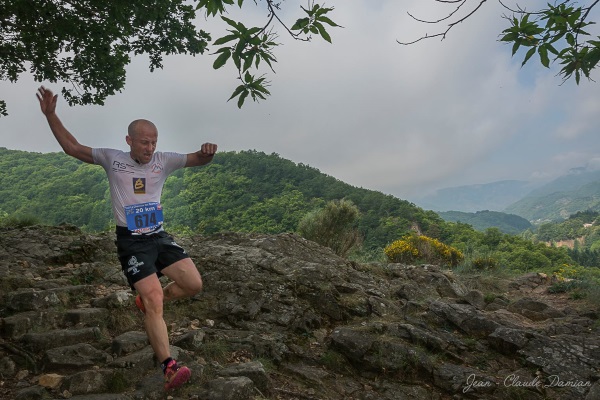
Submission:
[[[162,230],[162,188],[171,172],[185,167],[187,155],[155,152],[147,164],[115,149],[92,149],[92,156],[108,175],[117,225],[138,233]]]

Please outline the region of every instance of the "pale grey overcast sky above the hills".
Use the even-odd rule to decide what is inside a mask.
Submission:
[[[247,1],[256,24],[260,7]],[[479,0],[473,1],[473,4]],[[532,6],[536,1],[527,1]],[[538,2],[542,5],[545,1]],[[298,5],[283,3],[290,25]],[[129,122],[147,118],[159,129],[159,150],[191,152],[204,142],[222,151],[254,149],[308,164],[351,185],[417,201],[445,187],[505,179],[547,179],[575,167],[600,167],[600,83],[561,85],[559,66],[547,70],[498,41],[505,10],[488,1],[440,41],[412,40],[444,26],[412,21],[407,11],[435,19],[451,10],[433,0],[328,0],[333,44],[290,40],[279,29],[272,95],[227,102],[237,86],[231,65],[212,70],[214,56],[172,56],[150,73],[147,59],[128,68],[125,90],[105,106],[58,113],[78,140],[126,149]],[[245,9],[246,9],[245,8]],[[592,20],[598,21],[600,10]],[[234,14],[232,17],[238,15]],[[262,15],[264,19],[264,15]],[[222,24],[198,23],[222,35]],[[248,22],[246,25],[252,25]],[[597,32],[596,32],[597,35]],[[266,71],[265,71],[266,72]],[[600,75],[595,71],[596,80]],[[44,82],[55,92],[61,84]],[[23,75],[0,83],[8,117],[0,146],[60,151],[35,98],[39,83]]]

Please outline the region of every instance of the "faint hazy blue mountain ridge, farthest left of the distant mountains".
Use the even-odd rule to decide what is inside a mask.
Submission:
[[[433,211],[503,211],[536,187],[531,182],[519,180],[450,187],[417,200],[415,204]]]

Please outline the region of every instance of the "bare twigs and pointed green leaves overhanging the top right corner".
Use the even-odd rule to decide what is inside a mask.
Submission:
[[[453,8],[437,20],[424,20],[410,13],[409,15],[426,24],[447,23],[446,29],[413,41],[398,43],[410,45],[435,37],[443,40],[452,28],[473,16],[487,0],[433,1],[450,4]],[[575,76],[575,82],[579,84],[582,75],[592,80],[590,72],[600,61],[600,37],[587,31],[595,24],[588,18],[600,0],[583,1],[581,5],[576,5],[571,0],[563,0],[555,2],[554,5],[548,3],[547,8],[534,11],[528,11],[519,4],[509,7],[502,0],[498,2],[508,11],[509,14],[503,17],[510,24],[509,28],[502,31],[500,41],[512,44],[513,56],[521,48],[528,49],[522,65],[537,53],[540,63],[546,68],[550,67],[551,62],[562,65],[559,75],[562,76],[563,82]]]

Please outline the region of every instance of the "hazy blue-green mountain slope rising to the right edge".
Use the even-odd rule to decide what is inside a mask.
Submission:
[[[600,211],[600,170],[578,168],[532,191],[504,211],[539,224],[562,221],[588,210]]]

